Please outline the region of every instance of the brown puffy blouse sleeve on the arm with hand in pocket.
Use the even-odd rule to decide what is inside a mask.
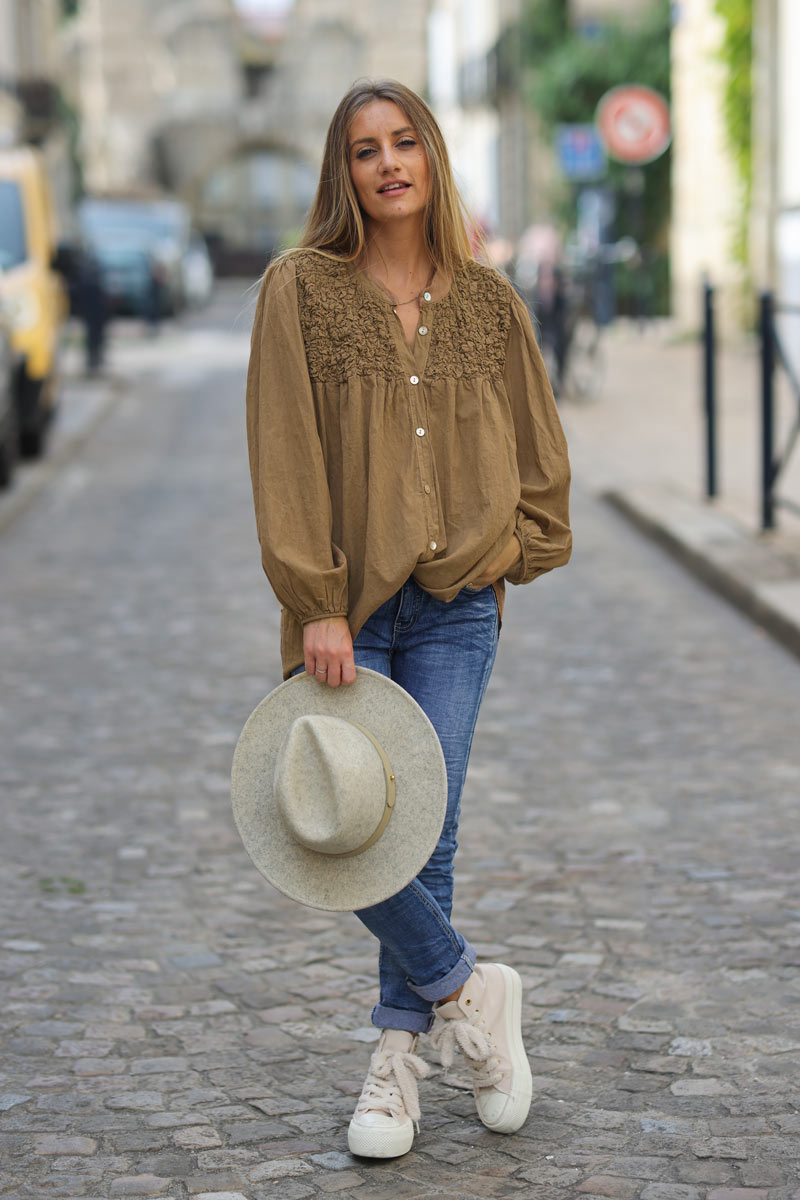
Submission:
[[[515,533],[522,546],[522,559],[506,578],[510,583],[530,583],[545,571],[563,566],[572,551],[570,462],[530,317],[516,293],[504,382],[517,439],[521,487]]]

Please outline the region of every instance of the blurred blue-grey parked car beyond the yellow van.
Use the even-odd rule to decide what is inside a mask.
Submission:
[[[88,197],[78,206],[78,224],[83,240],[101,262],[121,256],[130,266],[134,251],[145,254],[161,280],[164,311],[173,314],[185,307],[184,254],[190,245],[190,211],[185,204],[175,199]]]

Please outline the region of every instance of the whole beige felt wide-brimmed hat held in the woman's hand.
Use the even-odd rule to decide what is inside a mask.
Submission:
[[[348,686],[287,679],[251,713],[234,820],[261,875],[312,908],[366,908],[419,875],[441,833],[445,760],[420,706],[357,667]]]

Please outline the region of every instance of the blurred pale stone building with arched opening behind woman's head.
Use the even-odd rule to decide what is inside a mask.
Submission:
[[[350,83],[425,89],[428,2],[296,0],[276,23],[234,0],[79,0],[61,50],[86,190],[168,188],[219,242],[269,252],[311,203]]]

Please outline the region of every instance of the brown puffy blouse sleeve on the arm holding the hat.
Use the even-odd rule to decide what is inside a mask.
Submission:
[[[301,624],[347,617],[348,569],[332,542],[331,497],[297,312],[291,258],[261,284],[247,372],[247,445],[264,570]]]

